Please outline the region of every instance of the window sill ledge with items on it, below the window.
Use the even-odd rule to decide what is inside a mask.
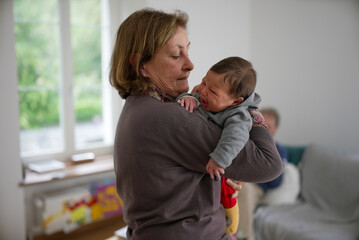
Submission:
[[[97,157],[96,160],[89,163],[67,163],[65,169],[48,173],[36,173],[26,169],[25,178],[20,182],[20,186],[26,187],[112,171],[114,171],[113,156],[107,155]]]

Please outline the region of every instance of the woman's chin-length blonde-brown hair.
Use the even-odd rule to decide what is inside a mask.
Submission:
[[[112,53],[110,83],[122,98],[147,90],[149,80],[140,74],[142,64],[152,59],[177,27],[186,29],[188,15],[168,14],[145,8],[131,14],[119,27]]]

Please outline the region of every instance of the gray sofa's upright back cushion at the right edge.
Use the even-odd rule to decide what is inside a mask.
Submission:
[[[319,144],[301,160],[301,196],[335,221],[359,219],[359,158]]]

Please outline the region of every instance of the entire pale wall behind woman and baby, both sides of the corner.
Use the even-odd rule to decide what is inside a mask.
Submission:
[[[133,9],[145,6],[188,13],[191,87],[221,58],[242,56],[258,72],[262,107],[281,113],[277,140],[359,152],[359,1],[147,0]]]

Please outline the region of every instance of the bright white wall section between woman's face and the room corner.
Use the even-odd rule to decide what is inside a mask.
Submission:
[[[240,55],[249,58],[248,0],[147,0],[146,6],[189,16],[190,58],[194,70],[190,87],[202,81],[208,69],[224,57]]]

